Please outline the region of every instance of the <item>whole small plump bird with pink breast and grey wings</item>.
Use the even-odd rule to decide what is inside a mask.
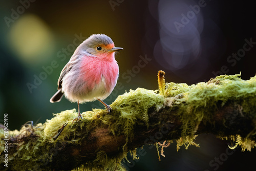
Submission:
[[[82,119],[79,103],[99,100],[111,112],[111,107],[102,100],[107,98],[116,86],[119,67],[115,60],[116,48],[113,40],[104,34],[93,34],[75,50],[69,62],[62,69],[58,79],[58,91],[50,102],[59,102],[63,95],[78,104],[78,116]]]

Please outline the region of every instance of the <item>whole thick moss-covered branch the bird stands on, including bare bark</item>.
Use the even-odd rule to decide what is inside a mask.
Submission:
[[[161,92],[138,88],[120,95],[111,114],[94,109],[72,124],[77,113],[68,110],[44,124],[26,124],[9,132],[8,167],[1,164],[0,170],[122,170],[120,163],[129,151],[136,158],[136,148],[161,140],[187,148],[197,145],[194,138],[202,133],[250,151],[256,140],[256,76],[239,76],[218,76],[191,86],[160,78],[165,84],[159,86]],[[0,137],[3,163],[3,129]]]

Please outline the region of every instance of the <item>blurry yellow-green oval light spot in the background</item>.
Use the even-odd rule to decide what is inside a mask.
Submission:
[[[8,36],[11,50],[30,65],[41,63],[53,54],[53,36],[44,21],[36,15],[20,16]]]

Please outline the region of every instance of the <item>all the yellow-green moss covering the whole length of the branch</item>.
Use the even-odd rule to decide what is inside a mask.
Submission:
[[[77,116],[75,109],[54,114],[54,117],[47,120],[46,123],[34,126],[33,131],[28,126],[24,126],[20,131],[10,132],[16,138],[17,136],[19,138],[31,137],[32,134],[35,137],[29,142],[15,142],[14,144],[19,148],[9,160],[16,163],[13,165],[13,169],[33,170],[38,163],[52,161],[54,154],[50,155],[49,151],[56,146],[57,142],[81,144],[81,137],[87,137],[95,127],[108,126],[113,135],[125,135],[126,143],[122,146],[123,153],[109,157],[104,151],[98,150],[95,152],[97,153],[95,160],[84,163],[77,170],[114,170],[115,168],[122,170],[120,163],[129,152],[126,145],[133,140],[135,126],[157,126],[150,125],[148,113],[166,107],[170,111],[177,111],[176,115],[182,122],[181,138],[176,140],[177,149],[182,145],[185,145],[186,148],[189,145],[198,146],[194,142],[198,126],[202,121],[214,124],[212,118],[215,117],[213,114],[218,105],[223,106],[228,100],[232,100],[242,106],[244,113],[256,114],[255,108],[252,108],[256,104],[256,76],[250,80],[242,80],[239,76],[240,74],[222,75],[208,82],[200,82],[191,86],[185,83],[170,82],[165,84],[163,95],[158,94],[159,91],[141,88],[130,90],[130,92],[118,96],[111,104],[113,109],[111,115],[105,110],[94,109],[83,112],[83,119],[78,124],[72,124],[72,120]],[[255,116],[251,116],[251,118],[255,119]],[[53,137],[65,123],[67,126],[54,141]],[[237,145],[241,145],[243,150],[250,150],[255,146],[255,142],[250,140],[250,136],[255,134],[256,129],[252,130],[246,138],[241,138],[239,135],[228,138],[220,136],[220,138],[231,139],[236,141]],[[3,139],[2,129],[0,129],[0,138]],[[1,145],[1,153],[3,149]],[[136,158],[136,149],[131,154]]]

